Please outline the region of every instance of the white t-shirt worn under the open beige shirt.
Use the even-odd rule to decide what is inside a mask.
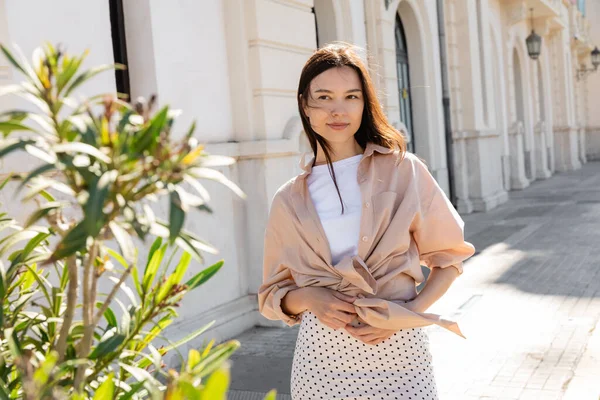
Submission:
[[[334,162],[335,179],[344,202],[344,214],[327,164],[312,168],[308,191],[327,236],[332,263],[355,256],[360,235],[362,199],[358,186],[358,164],[362,154]]]

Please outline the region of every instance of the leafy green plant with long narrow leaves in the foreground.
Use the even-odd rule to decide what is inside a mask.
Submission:
[[[154,343],[183,296],[223,265],[184,281],[192,258],[215,249],[183,225],[192,209],[211,212],[199,179],[244,196],[212,169],[233,160],[207,155],[194,125],[175,139],[176,113],[163,107],[153,114],[155,98],[135,106],[113,95],[74,100],[77,87],[115,66],[80,72],[85,54],[49,44],[31,64],[1,50],[26,80],[0,94],[21,96],[38,111],[0,116],[0,158],[24,151],[39,163],[10,177],[26,191],[24,201],[37,203],[24,226],[0,214],[0,230],[8,232],[0,239],[0,399],[224,398],[226,359],[238,342],[191,350],[179,372],[163,356],[208,327],[178,343]],[[163,197],[166,221],[150,207]],[[155,240],[142,270],[134,241],[148,237]],[[111,290],[100,294],[105,279]]]

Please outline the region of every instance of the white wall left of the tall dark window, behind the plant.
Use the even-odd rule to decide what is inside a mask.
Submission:
[[[35,8],[35,12],[32,10]],[[60,10],[58,12],[57,10]],[[62,43],[73,53],[83,53],[93,49],[83,62],[83,68],[113,63],[112,41],[108,3],[100,0],[83,4],[77,0],[57,0],[38,2],[33,0],[0,0],[0,42],[18,51],[31,62],[33,51],[44,42]],[[24,79],[18,71],[9,68],[8,61],[0,59],[0,85],[21,82]],[[107,72],[80,86],[74,96],[98,93],[111,93],[116,89],[114,74]],[[8,109],[28,109],[33,107],[15,96],[0,97],[0,112]],[[37,158],[23,153],[11,154],[0,161],[0,174],[26,172],[39,163]],[[23,223],[34,204],[21,204],[14,199],[15,187],[10,185],[0,192],[0,206],[11,217]]]

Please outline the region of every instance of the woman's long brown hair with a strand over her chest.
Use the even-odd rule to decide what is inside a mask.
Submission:
[[[321,148],[323,149],[329,173],[331,174],[338,197],[340,198],[342,213],[344,213],[344,203],[337,185],[337,180],[335,179],[335,171],[331,164],[331,147],[321,135],[312,129],[310,121],[304,112],[304,106],[308,107],[307,99],[311,96],[310,83],[317,75],[331,68],[347,66],[354,69],[362,83],[365,102],[360,127],[354,134],[356,142],[363,149],[367,146],[367,143],[373,143],[389,149],[398,149],[400,150],[401,155],[406,151],[406,140],[402,134],[389,123],[387,117],[383,113],[381,103],[379,103],[379,99],[377,98],[369,72],[355,49],[356,47],[351,44],[335,42],[315,51],[308,61],[306,61],[306,64],[304,64],[304,68],[302,68],[297,95],[298,110],[300,112],[304,132],[308,137],[310,147],[315,155],[315,160],[317,157],[317,143],[321,145]]]

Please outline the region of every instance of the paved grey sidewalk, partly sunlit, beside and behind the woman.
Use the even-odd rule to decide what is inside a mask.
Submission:
[[[467,337],[428,328],[440,399],[599,400],[600,163],[464,219],[478,252],[430,310]],[[242,334],[229,399],[290,399],[297,333]]]

